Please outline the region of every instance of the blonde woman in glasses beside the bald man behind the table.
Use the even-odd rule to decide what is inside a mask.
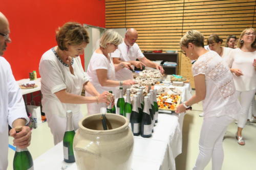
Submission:
[[[94,85],[97,91],[115,91],[116,86],[132,85],[133,80],[116,81],[115,72],[126,67],[131,69],[132,66],[128,62],[113,64],[110,53],[113,53],[117,46],[122,42],[122,37],[114,30],[107,30],[100,38],[100,47],[95,50],[88,65],[87,74],[90,82]],[[86,95],[91,95],[86,92]],[[101,107],[106,107],[103,103],[87,104],[88,113],[99,113]]]

